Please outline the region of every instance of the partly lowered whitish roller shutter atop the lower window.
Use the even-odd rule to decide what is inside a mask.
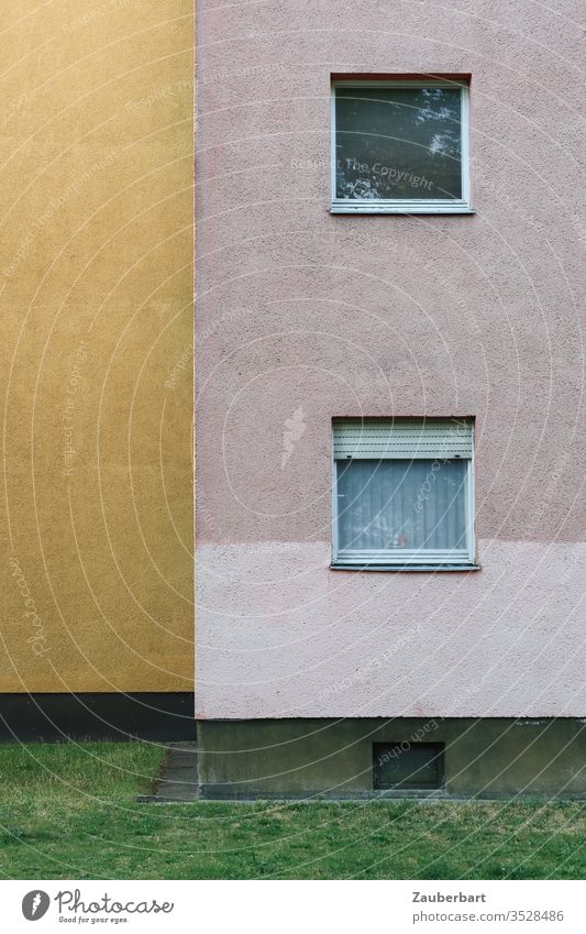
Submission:
[[[349,418],[334,421],[334,458],[472,458],[473,422],[461,418]]]

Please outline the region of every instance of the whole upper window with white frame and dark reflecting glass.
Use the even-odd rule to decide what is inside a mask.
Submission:
[[[464,81],[334,81],[332,211],[469,213]]]

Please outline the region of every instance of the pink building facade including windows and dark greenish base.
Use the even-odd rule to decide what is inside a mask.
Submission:
[[[202,794],[586,793],[577,7],[201,10]]]

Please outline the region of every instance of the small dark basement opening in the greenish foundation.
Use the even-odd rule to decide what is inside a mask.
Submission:
[[[373,787],[441,788],[443,758],[443,743],[375,743]]]

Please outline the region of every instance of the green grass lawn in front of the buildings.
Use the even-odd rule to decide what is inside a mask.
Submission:
[[[0,746],[4,879],[583,879],[586,804],[139,804],[147,744]]]

